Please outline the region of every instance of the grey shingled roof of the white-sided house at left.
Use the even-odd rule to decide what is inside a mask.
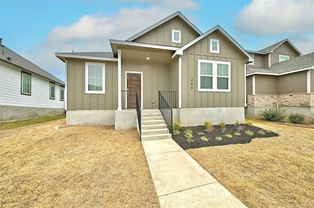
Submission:
[[[37,74],[41,77],[48,78],[60,84],[65,84],[64,81],[60,80],[59,78],[54,77],[52,74],[46,72],[39,66],[28,61],[26,58],[17,54],[16,52],[11,51],[10,49],[3,46],[2,44],[0,44],[0,59],[6,63],[21,67],[22,69],[25,69],[26,71]]]

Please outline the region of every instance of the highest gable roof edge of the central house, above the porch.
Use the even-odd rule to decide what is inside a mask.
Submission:
[[[171,19],[173,19],[173,18],[175,18],[175,17],[177,17],[177,16],[181,17],[181,19],[182,19],[187,25],[191,26],[198,34],[200,34],[200,35],[203,34],[196,26],[194,26],[188,19],[186,19],[186,17],[184,17],[184,15],[183,15],[181,12],[177,11],[176,13],[170,15],[169,17],[166,17],[165,19],[163,19],[163,20],[157,22],[156,24],[154,24],[154,25],[152,25],[152,26],[150,26],[150,27],[148,27],[148,28],[142,30],[141,32],[137,33],[136,35],[133,35],[133,36],[132,36],[131,38],[129,38],[127,41],[133,41],[133,40],[135,40],[136,38],[140,37],[141,35],[143,35],[143,34],[149,32],[149,31],[151,31],[152,29],[156,28],[157,26],[160,26],[160,25],[164,24],[165,22],[167,22],[167,21],[169,21],[169,20],[171,20]]]

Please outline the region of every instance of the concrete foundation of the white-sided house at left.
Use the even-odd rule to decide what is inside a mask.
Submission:
[[[0,105],[0,122],[22,121],[65,114],[64,108]]]

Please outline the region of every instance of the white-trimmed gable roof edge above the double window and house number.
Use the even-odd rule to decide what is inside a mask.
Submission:
[[[172,58],[174,58],[176,55],[182,55],[183,51],[185,49],[187,49],[188,47],[194,45],[195,43],[197,43],[198,41],[202,40],[203,38],[205,38],[206,36],[208,36],[210,33],[212,33],[215,30],[219,30],[221,33],[223,33],[233,44],[235,44],[235,46],[241,51],[243,52],[248,58],[249,61],[252,62],[254,61],[254,58],[248,53],[246,52],[236,41],[235,39],[233,39],[221,26],[216,25],[213,28],[209,29],[207,32],[205,32],[204,34],[202,34],[201,36],[195,38],[193,41],[189,42],[188,44],[184,45],[182,48],[178,49],[173,55]]]

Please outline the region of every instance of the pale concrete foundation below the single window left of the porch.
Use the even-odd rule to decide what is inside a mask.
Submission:
[[[67,110],[68,125],[114,125],[116,110]]]

